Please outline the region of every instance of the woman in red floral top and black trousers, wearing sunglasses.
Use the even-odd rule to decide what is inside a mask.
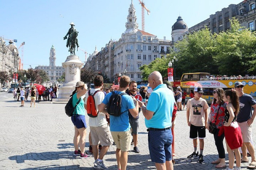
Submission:
[[[220,128],[224,125],[225,118],[225,109],[227,103],[224,102],[224,90],[222,88],[216,88],[213,90],[213,101],[211,104],[211,110],[208,117],[207,129],[210,130],[210,124],[215,124],[214,128],[214,140],[215,145],[218,150],[219,158],[215,161],[212,161],[212,164],[217,164],[216,168],[226,167],[225,163],[225,149],[223,146],[224,133],[221,136],[218,136]]]

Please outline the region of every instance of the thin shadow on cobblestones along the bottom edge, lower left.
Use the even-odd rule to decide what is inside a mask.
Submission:
[[[59,165],[50,165],[50,166],[41,166],[36,168],[25,168],[21,170],[33,170],[33,169],[81,169],[81,170],[93,170],[93,167],[80,167],[80,165],[68,165],[68,166],[59,166]]]

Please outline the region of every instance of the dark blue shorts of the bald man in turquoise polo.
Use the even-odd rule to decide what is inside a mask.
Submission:
[[[165,163],[172,160],[172,130],[148,132],[148,148],[151,161]]]

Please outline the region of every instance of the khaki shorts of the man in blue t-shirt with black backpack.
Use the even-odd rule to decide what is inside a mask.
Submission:
[[[127,152],[131,149],[131,129],[128,131],[111,131],[116,148]]]

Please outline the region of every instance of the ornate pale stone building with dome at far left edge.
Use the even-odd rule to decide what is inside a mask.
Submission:
[[[5,44],[4,38],[0,37],[0,71],[6,71],[8,73],[14,73],[19,68],[19,51],[17,46],[10,41],[9,45]],[[2,86],[10,86],[10,82],[1,84]]]

